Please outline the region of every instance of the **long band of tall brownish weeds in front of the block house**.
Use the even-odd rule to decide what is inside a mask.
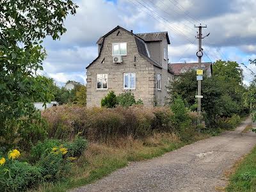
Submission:
[[[174,107],[173,107],[174,109]],[[175,111],[178,110],[174,109]],[[172,112],[167,107],[148,108],[145,106],[131,106],[123,108],[84,108],[78,106],[58,106],[42,112],[49,122],[49,136],[57,139],[73,140],[76,134],[90,141],[113,141],[116,138],[131,136],[142,138],[153,132],[179,132],[178,120],[190,121],[189,127],[196,127],[196,113],[186,111],[186,118],[182,113]],[[68,148],[68,147],[67,147]]]

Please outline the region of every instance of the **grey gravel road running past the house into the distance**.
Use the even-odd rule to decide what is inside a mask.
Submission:
[[[244,121],[236,131],[198,141],[161,157],[131,163],[81,191],[215,191],[225,186],[223,172],[256,144],[256,133],[242,133],[250,124]]]

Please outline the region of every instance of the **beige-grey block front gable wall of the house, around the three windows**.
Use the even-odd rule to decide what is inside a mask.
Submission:
[[[117,36],[118,31],[120,33]],[[127,56],[123,56],[122,64],[113,63],[112,56],[112,44],[119,42],[127,42]],[[101,99],[111,90],[116,95],[127,92],[124,90],[125,72],[136,74],[136,89],[131,90],[136,99],[142,99],[146,106],[151,106],[154,101],[154,66],[140,56],[134,36],[116,29],[104,38],[102,46],[99,58],[87,68],[87,106],[100,106]],[[104,58],[105,62],[101,63]],[[97,90],[97,74],[108,74],[108,90]]]

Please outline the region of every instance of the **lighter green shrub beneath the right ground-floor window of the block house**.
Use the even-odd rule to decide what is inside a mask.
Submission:
[[[143,104],[141,99],[139,99],[138,101],[135,100],[134,94],[131,91],[118,95],[117,101],[118,105],[122,107],[129,107],[134,104]]]

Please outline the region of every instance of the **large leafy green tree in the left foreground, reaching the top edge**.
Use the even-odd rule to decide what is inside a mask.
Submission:
[[[76,8],[70,0],[0,1],[0,140],[4,143],[21,135],[19,141],[28,143],[37,130],[40,113],[31,100],[52,99],[45,79],[36,78],[46,56],[42,39],[59,39],[66,31],[64,19]]]

